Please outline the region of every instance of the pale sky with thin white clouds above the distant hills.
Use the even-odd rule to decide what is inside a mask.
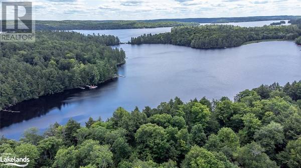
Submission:
[[[301,15],[301,0],[32,0],[32,2],[34,18],[37,20]]]

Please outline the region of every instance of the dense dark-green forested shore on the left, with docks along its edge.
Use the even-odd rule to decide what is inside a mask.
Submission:
[[[112,78],[123,63],[122,49],[112,49],[112,35],[43,31],[35,42],[1,43],[0,108]]]

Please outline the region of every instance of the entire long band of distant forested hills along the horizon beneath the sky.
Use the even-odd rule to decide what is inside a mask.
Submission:
[[[36,30],[74,30],[74,29],[126,29],[155,28],[199,23],[224,23],[263,20],[295,20],[301,16],[251,16],[251,17],[216,17],[216,18],[171,18],[151,20],[35,20]],[[8,20],[10,22],[10,20]],[[14,24],[14,22],[11,22]]]

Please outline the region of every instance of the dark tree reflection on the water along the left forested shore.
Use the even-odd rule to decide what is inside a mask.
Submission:
[[[122,68],[121,68],[122,69]],[[20,112],[0,111],[1,128],[13,123],[23,122],[35,117],[41,117],[49,111],[58,110],[68,106],[69,103],[81,103],[86,98],[97,97],[103,88],[114,84],[118,79],[112,79],[99,85],[96,89],[70,89],[52,95],[44,95],[37,99],[25,100],[8,109]]]

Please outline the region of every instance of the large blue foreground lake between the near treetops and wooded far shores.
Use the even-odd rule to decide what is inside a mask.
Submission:
[[[118,32],[120,33],[120,32]],[[115,46],[114,46],[115,47]],[[268,41],[223,49],[194,49],[171,44],[117,45],[126,52],[125,75],[97,89],[72,89],[17,104],[20,113],[1,113],[1,134],[19,139],[23,131],[73,118],[84,124],[89,116],[103,120],[122,106],[133,110],[156,107],[175,96],[188,101],[233,96],[247,88],[274,81],[301,79],[301,46],[292,41]]]

